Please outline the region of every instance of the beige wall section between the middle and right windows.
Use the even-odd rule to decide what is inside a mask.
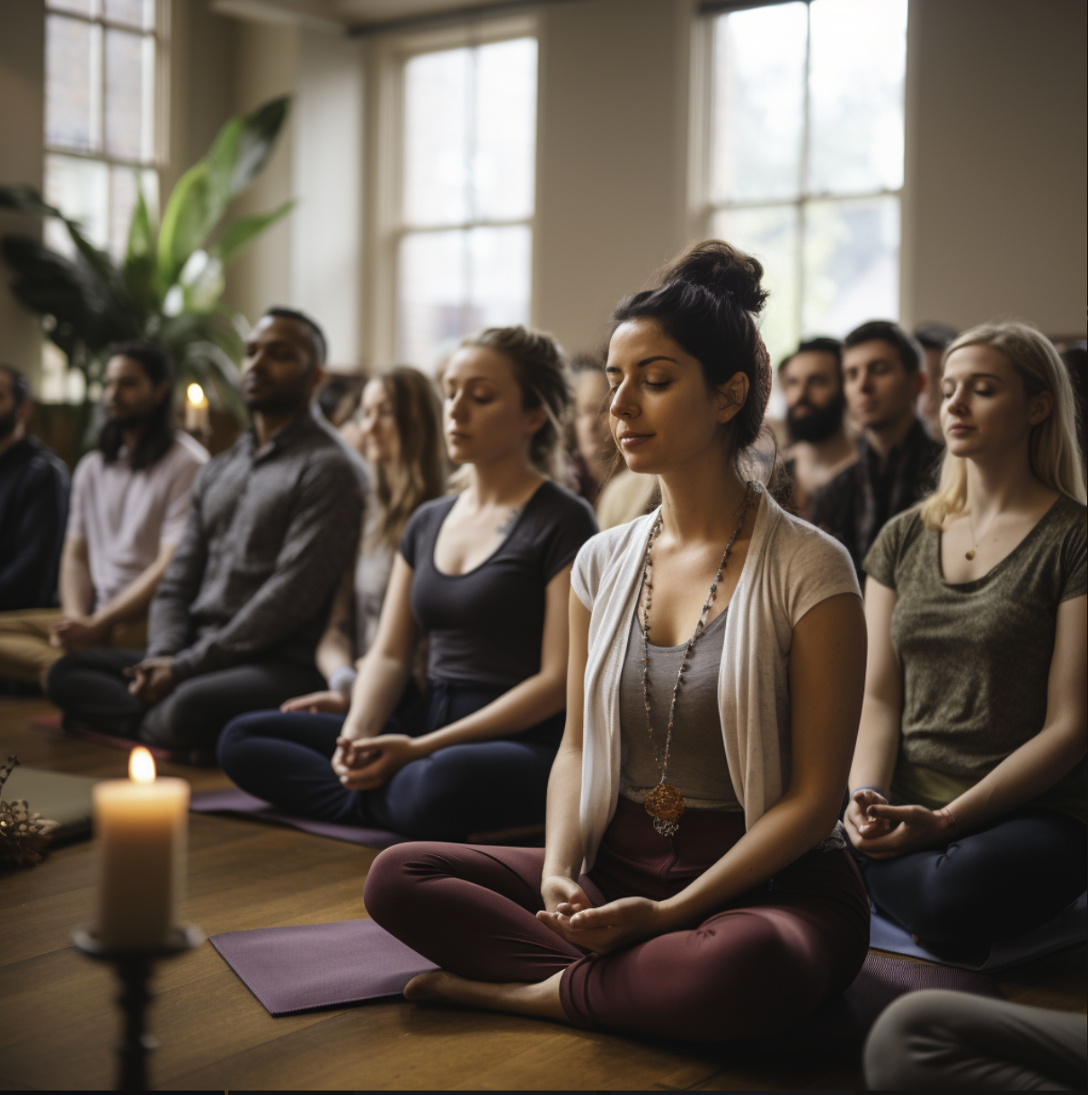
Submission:
[[[539,15],[534,322],[596,346],[687,232],[690,4],[581,0]]]

